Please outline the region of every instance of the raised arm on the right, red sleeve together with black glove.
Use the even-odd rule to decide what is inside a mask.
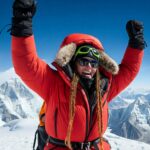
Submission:
[[[108,101],[124,90],[136,77],[140,70],[145,48],[143,24],[130,20],[126,25],[129,43],[123,60],[120,64],[119,73],[112,77]]]

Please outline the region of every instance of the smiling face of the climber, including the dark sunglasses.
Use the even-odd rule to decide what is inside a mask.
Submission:
[[[77,59],[75,70],[79,76],[92,79],[98,68],[98,62],[90,57],[82,57]]]

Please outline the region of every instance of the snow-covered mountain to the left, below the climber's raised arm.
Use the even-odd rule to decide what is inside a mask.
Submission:
[[[41,99],[15,74],[14,69],[0,73],[0,125],[19,118],[37,117]]]

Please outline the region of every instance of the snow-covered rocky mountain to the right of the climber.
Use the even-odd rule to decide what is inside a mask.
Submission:
[[[111,132],[150,144],[150,93],[127,93],[110,103]]]

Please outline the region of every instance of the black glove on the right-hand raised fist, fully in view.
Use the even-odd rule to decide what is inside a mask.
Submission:
[[[129,47],[136,49],[144,49],[146,47],[143,33],[144,26],[142,22],[130,20],[126,24],[126,30],[129,36]]]

